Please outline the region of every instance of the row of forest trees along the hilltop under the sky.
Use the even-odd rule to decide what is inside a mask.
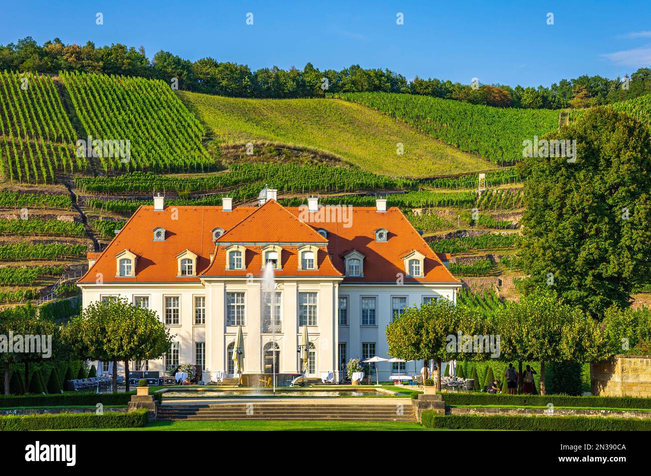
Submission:
[[[473,104],[528,109],[584,108],[636,98],[651,92],[651,68],[639,68],[630,77],[608,79],[583,75],[561,79],[553,85],[534,87],[464,85],[442,79],[415,77],[380,68],[352,65],[342,70],[319,70],[307,63],[302,70],[277,66],[251,71],[245,64],[220,62],[206,57],[183,59],[158,51],[148,59],[144,47],[123,44],[96,47],[64,44],[55,38],[39,45],[27,36],[0,45],[0,71],[58,73],[79,71],[178,80],[178,89],[235,98],[309,98],[326,92],[402,92]]]

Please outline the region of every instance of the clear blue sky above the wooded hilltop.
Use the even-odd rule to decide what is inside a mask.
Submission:
[[[96,25],[96,13],[104,25]],[[246,24],[253,13],[253,25]],[[404,25],[396,14],[404,14]],[[553,25],[547,14],[553,13]],[[408,79],[549,86],[651,66],[649,1],[4,1],[0,44],[122,43],[196,60],[389,68]]]

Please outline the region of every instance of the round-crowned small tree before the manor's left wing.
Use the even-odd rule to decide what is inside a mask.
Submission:
[[[128,390],[130,360],[160,358],[172,337],[156,311],[135,306],[125,298],[92,302],[64,332],[79,356],[113,362],[113,391],[117,391],[117,363],[124,362]]]

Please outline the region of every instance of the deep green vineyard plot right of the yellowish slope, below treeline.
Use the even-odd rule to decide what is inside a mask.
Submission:
[[[422,133],[494,163],[511,165],[522,158],[522,141],[553,131],[559,111],[512,109],[473,105],[413,94],[374,92],[338,93],[402,120]]]

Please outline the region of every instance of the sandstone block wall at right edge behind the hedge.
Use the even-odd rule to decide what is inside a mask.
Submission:
[[[617,355],[590,364],[590,391],[600,397],[651,397],[651,357]]]

